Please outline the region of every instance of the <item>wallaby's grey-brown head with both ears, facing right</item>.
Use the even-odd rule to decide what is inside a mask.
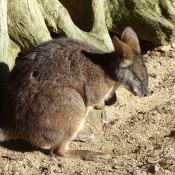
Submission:
[[[126,27],[121,41],[114,36],[113,44],[119,59],[119,67],[116,70],[118,81],[134,95],[147,96],[148,73],[136,33],[131,27]]]

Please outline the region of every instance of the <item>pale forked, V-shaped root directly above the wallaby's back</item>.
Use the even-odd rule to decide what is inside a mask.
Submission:
[[[82,40],[104,51],[113,50],[111,38],[105,25],[103,0],[92,0],[94,23],[90,32],[84,32],[78,28],[73,23],[66,8],[59,1],[38,0],[38,2],[50,31]]]

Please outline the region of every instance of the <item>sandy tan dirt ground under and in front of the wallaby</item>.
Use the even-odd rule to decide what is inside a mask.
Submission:
[[[118,101],[105,107],[102,129],[87,120],[84,132],[96,138],[71,142],[71,149],[109,153],[100,161],[55,157],[24,141],[0,144],[0,175],[4,174],[175,174],[175,49],[148,51],[144,55],[149,72],[150,95],[133,96],[120,87]]]

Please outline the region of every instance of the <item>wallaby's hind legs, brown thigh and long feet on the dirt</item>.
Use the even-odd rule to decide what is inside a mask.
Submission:
[[[92,135],[88,134],[77,135],[84,124],[85,116],[89,109],[84,105],[81,95],[74,89],[66,87],[62,89],[61,93],[57,94],[57,96],[61,103],[59,103],[56,109],[61,110],[55,113],[55,115],[58,115],[54,120],[54,122],[57,123],[56,127],[51,128],[53,129],[52,132],[55,133],[54,138],[52,138],[52,135],[49,135],[50,140],[52,139],[50,153],[63,157],[77,157],[86,160],[109,159],[110,155],[108,154],[87,150],[69,150],[69,142],[76,138],[76,136],[79,137],[80,140],[92,137]]]

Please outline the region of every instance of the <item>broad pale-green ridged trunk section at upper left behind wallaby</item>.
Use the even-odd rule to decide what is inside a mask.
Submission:
[[[36,0],[8,0],[8,32],[22,52],[51,39]]]

